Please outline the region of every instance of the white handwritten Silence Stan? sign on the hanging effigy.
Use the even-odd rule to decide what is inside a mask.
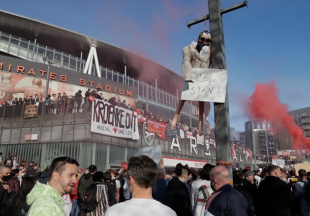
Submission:
[[[193,82],[183,81],[181,100],[224,103],[227,70],[193,68]]]

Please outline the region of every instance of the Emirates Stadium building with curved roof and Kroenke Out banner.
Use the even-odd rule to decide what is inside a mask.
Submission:
[[[95,47],[95,55],[87,69],[91,47]],[[152,77],[143,76],[143,65],[152,70]],[[4,158],[13,153],[19,160],[46,167],[55,157],[69,156],[82,167],[96,164],[106,170],[138,155],[140,148],[160,146],[165,166],[182,162],[199,168],[206,162],[215,163],[216,144],[207,120],[205,135],[198,137],[186,126],[170,133],[169,124],[128,110],[133,106],[171,118],[182,89],[180,75],[105,42],[0,10],[0,100],[28,99],[34,94],[46,98],[48,74],[48,94],[64,92],[68,99],[53,107],[51,101],[1,107],[0,151]],[[86,99],[84,104],[82,99],[77,110],[75,93],[81,90],[84,97],[89,88],[99,90],[104,99],[114,97],[130,106],[109,107],[108,102],[97,99]],[[206,116],[209,111],[206,106]],[[186,102],[180,122],[197,126],[197,112],[195,102]]]

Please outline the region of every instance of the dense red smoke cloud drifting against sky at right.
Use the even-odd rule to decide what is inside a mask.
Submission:
[[[249,111],[254,119],[273,122],[275,130],[283,126],[293,138],[293,148],[310,149],[310,138],[304,135],[291,115],[287,114],[287,107],[280,103],[275,82],[256,84],[254,93],[250,96]]]

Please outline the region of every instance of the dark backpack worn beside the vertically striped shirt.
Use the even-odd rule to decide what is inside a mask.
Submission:
[[[93,212],[99,202],[97,202],[97,185],[100,183],[93,183],[83,193],[81,197],[81,209],[84,213]]]

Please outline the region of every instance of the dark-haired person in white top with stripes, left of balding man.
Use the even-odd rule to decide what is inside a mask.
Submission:
[[[206,203],[213,193],[210,182],[210,171],[214,167],[212,164],[205,164],[200,171],[200,178],[191,185],[190,202],[193,216],[203,216]]]

